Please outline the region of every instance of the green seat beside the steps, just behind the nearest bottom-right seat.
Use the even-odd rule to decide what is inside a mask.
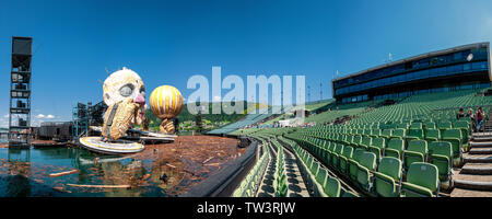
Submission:
[[[453,147],[450,142],[431,142],[429,146],[429,162],[437,166],[440,180],[442,182],[448,181],[453,170]]]

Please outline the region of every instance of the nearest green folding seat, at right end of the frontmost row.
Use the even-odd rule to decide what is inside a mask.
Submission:
[[[437,166],[417,162],[410,165],[407,182],[401,183],[401,191],[406,197],[433,197],[438,185]]]

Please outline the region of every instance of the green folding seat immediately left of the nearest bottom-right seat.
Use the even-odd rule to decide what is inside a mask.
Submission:
[[[383,158],[377,172],[374,173],[374,188],[378,196],[397,197],[399,188],[397,182],[401,180],[401,161],[396,158]]]

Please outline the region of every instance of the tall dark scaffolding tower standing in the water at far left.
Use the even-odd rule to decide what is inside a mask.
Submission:
[[[32,45],[31,37],[12,37],[9,148],[30,147]]]

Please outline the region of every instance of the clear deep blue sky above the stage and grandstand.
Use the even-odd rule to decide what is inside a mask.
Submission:
[[[492,38],[491,1],[0,1],[0,126],[7,125],[12,36],[32,36],[33,118],[69,120],[102,100],[105,68],[128,67],[148,94],[187,97],[189,77],[304,74],[311,100],[330,81],[394,60]],[[211,79],[210,79],[211,81]],[[307,97],[306,97],[307,100]]]

